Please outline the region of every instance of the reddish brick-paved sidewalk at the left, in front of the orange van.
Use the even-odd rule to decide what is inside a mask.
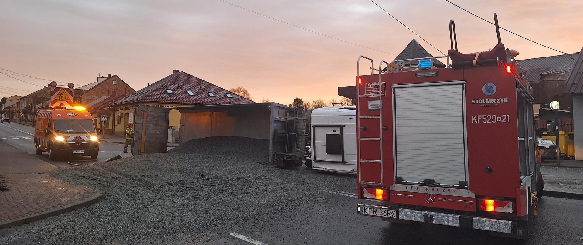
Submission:
[[[83,201],[97,190],[52,178],[52,164],[0,142],[0,222]]]

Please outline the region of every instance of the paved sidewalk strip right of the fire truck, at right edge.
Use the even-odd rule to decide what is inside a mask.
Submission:
[[[545,192],[583,199],[583,168],[542,167]]]

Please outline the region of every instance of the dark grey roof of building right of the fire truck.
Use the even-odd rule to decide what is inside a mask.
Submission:
[[[573,59],[577,59],[580,53],[570,54]],[[562,70],[575,64],[575,60],[569,55],[556,55],[548,57],[538,57],[525,60],[517,60],[522,72],[526,75],[526,80],[531,84],[540,82],[540,74],[547,71]]]

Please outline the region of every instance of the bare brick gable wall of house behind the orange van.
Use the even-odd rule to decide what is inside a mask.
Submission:
[[[116,81],[117,84],[113,84]],[[103,96],[114,96],[115,95],[131,95],[136,92],[132,87],[129,87],[123,80],[117,75],[113,75],[109,80],[102,82],[101,84],[89,89],[86,93],[76,98],[76,102],[79,101],[80,106],[86,106],[88,103],[95,101]]]

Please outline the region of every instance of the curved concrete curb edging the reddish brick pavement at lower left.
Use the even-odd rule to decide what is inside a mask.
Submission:
[[[65,206],[52,208],[47,211],[37,212],[36,214],[30,214],[19,218],[9,219],[7,221],[0,222],[0,229],[8,228],[10,226],[17,226],[17,225],[24,225],[26,223],[30,223],[33,221],[37,221],[39,219],[44,219],[52,216],[56,216],[59,214],[64,214],[65,212],[71,212],[73,210],[78,210],[79,208],[87,207],[91,204],[95,204],[101,199],[105,197],[105,193],[96,193],[92,197],[89,197],[83,201],[79,201],[78,203],[71,203]]]

